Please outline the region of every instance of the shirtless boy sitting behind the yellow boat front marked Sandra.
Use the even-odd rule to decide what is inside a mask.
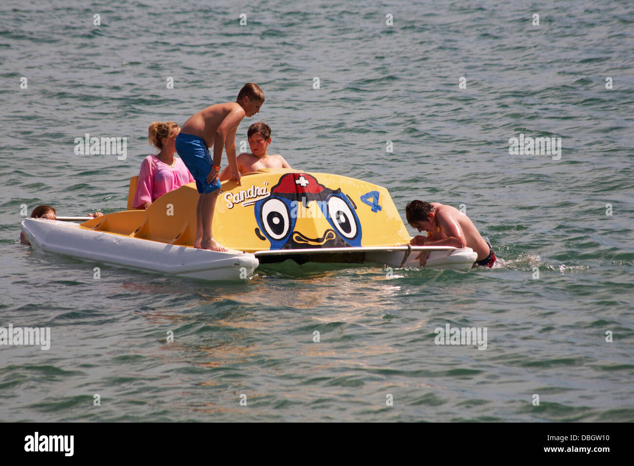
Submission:
[[[257,172],[261,168],[290,168],[288,162],[281,155],[269,155],[267,148],[271,144],[271,128],[259,121],[249,126],[249,147],[251,153],[243,152],[238,155],[238,170],[243,175]],[[226,167],[220,175],[220,181],[230,179],[230,167]]]

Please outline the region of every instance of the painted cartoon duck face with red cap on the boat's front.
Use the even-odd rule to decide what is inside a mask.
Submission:
[[[254,204],[256,235],[270,249],[361,246],[354,202],[306,173],[287,173]]]

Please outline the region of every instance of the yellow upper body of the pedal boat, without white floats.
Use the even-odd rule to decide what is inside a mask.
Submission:
[[[153,202],[89,220],[82,228],[193,246],[194,183]],[[259,250],[407,244],[410,236],[385,188],[327,173],[265,170],[222,183],[214,238],[230,249]]]

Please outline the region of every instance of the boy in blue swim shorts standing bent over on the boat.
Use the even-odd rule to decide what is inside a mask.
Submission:
[[[227,152],[230,179],[240,184],[236,163],[235,136],[242,119],[252,117],[264,103],[264,92],[257,84],[247,82],[235,102],[217,103],[200,110],[188,119],[176,137],[176,152],[196,180],[196,239],[194,247],[226,251],[214,240],[212,223],[216,198],[220,192],[220,164],[223,148]],[[208,148],[214,147],[212,159]]]

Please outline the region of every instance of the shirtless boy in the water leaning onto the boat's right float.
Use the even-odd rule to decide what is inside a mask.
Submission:
[[[451,205],[413,200],[405,207],[405,216],[412,228],[427,231],[427,236],[416,235],[411,244],[416,246],[470,247],[477,252],[475,266],[493,267],[495,254],[488,240],[484,240],[469,217]],[[417,259],[420,266],[427,262],[429,251],[422,251]]]

